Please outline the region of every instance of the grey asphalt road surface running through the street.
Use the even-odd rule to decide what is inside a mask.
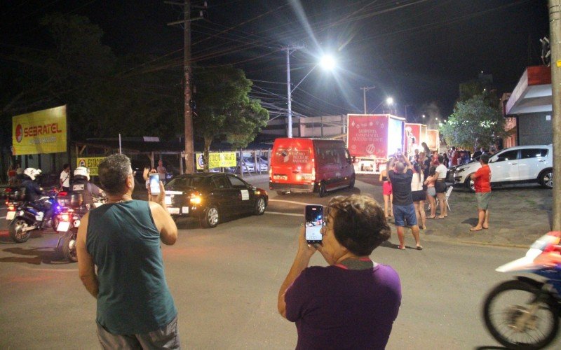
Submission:
[[[377,190],[363,182],[357,187],[341,193]],[[278,315],[276,295],[295,255],[303,204],[328,199],[272,194],[264,216],[212,230],[180,221],[180,239],[163,246],[163,253],[185,348],[294,348],[295,326]],[[76,265],[57,260],[56,240],[57,235],[43,232],[13,244],[0,231],[1,349],[99,349],[95,300],[81,286]],[[388,349],[496,346],[482,326],[481,301],[495,283],[510,278],[494,268],[525,250],[462,244],[436,234],[424,235],[423,251],[398,251],[396,244],[394,232],[372,254],[373,260],[392,265],[403,283]],[[414,245],[412,237],[407,244]],[[320,255],[312,263],[325,265]],[[557,339],[551,349],[560,345]]]

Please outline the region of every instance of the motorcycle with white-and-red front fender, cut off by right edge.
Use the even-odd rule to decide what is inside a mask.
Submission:
[[[555,339],[561,311],[561,232],[549,232],[530,246],[523,258],[497,272],[529,272],[504,281],[485,297],[483,318],[492,337],[508,349],[541,349]]]

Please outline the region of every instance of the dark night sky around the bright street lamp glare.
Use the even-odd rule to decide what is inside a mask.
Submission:
[[[192,1],[202,5],[203,1]],[[546,0],[210,0],[204,20],[192,22],[195,64],[234,64],[254,81],[252,97],[271,111],[286,108],[283,47],[305,45],[291,56],[292,83],[313,71],[293,94],[304,116],[363,111],[392,96],[410,121],[438,106],[452,112],[459,83],[491,73],[497,94],[511,92],[528,65],[540,64],[539,38],[548,36]],[[198,10],[193,10],[198,15]],[[149,64],[182,64],[182,29],[169,27],[182,9],[156,0],[3,1],[0,48],[44,48],[45,13],[85,15],[104,31],[116,55],[144,53]],[[332,72],[315,68],[321,52],[337,59]],[[2,59],[0,55],[0,59]],[[381,108],[377,109],[381,112]],[[437,113],[432,110],[431,113]]]

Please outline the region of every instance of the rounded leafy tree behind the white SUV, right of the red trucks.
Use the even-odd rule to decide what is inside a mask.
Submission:
[[[473,148],[475,144],[494,144],[497,138],[503,137],[504,123],[498,107],[490,106],[486,97],[478,94],[458,102],[440,132],[447,144]]]

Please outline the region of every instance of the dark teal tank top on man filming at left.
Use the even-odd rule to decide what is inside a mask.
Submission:
[[[177,315],[148,202],[104,204],[90,211],[86,248],[100,284],[97,323],[109,332],[147,333]]]

